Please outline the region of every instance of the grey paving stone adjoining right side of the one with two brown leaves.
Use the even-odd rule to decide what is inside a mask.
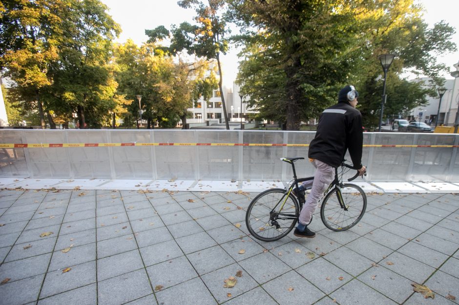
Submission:
[[[287,264],[270,252],[261,253],[239,262],[255,281],[266,283],[290,270]],[[268,267],[269,266],[269,267]]]

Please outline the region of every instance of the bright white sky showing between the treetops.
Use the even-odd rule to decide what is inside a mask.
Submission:
[[[170,29],[171,24],[180,24],[184,21],[192,23],[195,16],[193,9],[184,9],[177,5],[176,0],[102,0],[109,8],[109,14],[121,25],[123,32],[118,42],[125,42],[131,38],[135,43],[141,44],[147,40],[146,29],[154,29],[164,25]],[[445,20],[456,28],[456,34],[452,41],[459,47],[459,1],[457,0],[415,0],[426,9],[424,19],[433,25]],[[223,69],[223,83],[232,87],[232,81],[236,78],[239,50],[230,48],[227,55],[221,57]],[[438,62],[444,63],[453,71],[453,64],[459,62],[459,51],[440,56]],[[452,79],[449,73],[443,75]]]

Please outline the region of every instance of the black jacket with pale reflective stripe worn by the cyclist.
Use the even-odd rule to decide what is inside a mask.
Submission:
[[[355,169],[362,167],[362,114],[347,102],[340,102],[320,115],[308,156],[338,167],[349,149]]]

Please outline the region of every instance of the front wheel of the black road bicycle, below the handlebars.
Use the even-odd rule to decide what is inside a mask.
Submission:
[[[343,199],[343,207],[339,204],[339,197]],[[366,208],[365,192],[355,184],[344,184],[341,191],[334,188],[325,195],[320,217],[328,229],[344,231],[354,227],[362,219]]]

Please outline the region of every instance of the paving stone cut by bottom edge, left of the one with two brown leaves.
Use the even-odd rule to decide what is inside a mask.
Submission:
[[[199,300],[199,304],[217,304],[200,278],[156,292],[159,304],[189,304],[190,300]]]

